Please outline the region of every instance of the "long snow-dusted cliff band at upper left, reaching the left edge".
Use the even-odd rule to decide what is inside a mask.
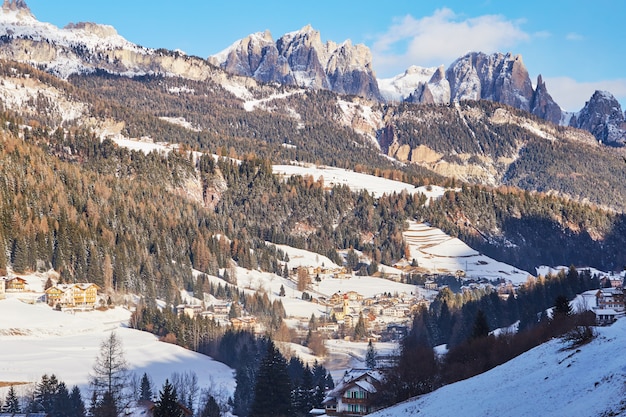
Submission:
[[[115,28],[95,23],[60,29],[39,22],[22,0],[5,0],[0,11],[0,58],[25,62],[67,78],[104,70],[114,74],[164,74],[205,80],[215,72],[206,61],[178,52],[142,48]]]

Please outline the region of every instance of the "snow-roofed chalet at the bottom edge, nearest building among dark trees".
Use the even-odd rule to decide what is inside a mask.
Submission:
[[[383,383],[380,372],[371,369],[347,371],[323,401],[329,416],[363,416],[377,410],[373,405]]]

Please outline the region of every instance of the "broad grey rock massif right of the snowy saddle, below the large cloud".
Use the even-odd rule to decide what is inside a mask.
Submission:
[[[446,71],[451,101],[492,100],[530,111],[533,88],[520,55],[472,52]]]

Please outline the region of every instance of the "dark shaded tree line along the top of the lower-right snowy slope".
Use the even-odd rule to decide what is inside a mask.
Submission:
[[[376,399],[391,405],[426,394],[445,384],[483,373],[547,342],[561,337],[569,347],[594,337],[595,315],[574,311],[575,294],[598,288],[597,277],[570,268],[522,285],[517,296],[502,300],[496,293],[462,303],[442,291],[429,309],[413,318],[395,363],[385,370],[385,384]],[[458,302],[462,305],[459,305]],[[552,314],[547,310],[553,308]],[[517,323],[515,330],[492,333]],[[439,356],[434,346],[446,344]]]

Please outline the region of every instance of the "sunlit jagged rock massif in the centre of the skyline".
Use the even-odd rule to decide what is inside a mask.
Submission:
[[[237,75],[262,82],[295,84],[381,99],[372,70],[372,56],[364,45],[346,41],[323,44],[320,33],[305,26],[273,42],[269,32],[250,35],[209,62]]]

